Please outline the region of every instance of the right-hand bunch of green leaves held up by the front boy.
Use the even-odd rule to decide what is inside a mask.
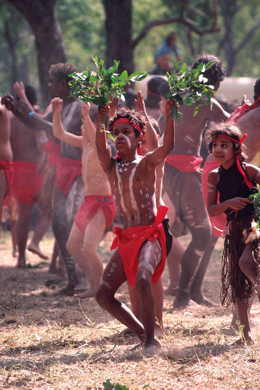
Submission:
[[[203,77],[203,73],[215,64],[215,62],[209,61],[207,64],[203,64],[203,62],[201,62],[196,69],[190,69],[188,71],[186,71],[186,64],[182,64],[179,73],[175,73],[179,64],[180,62],[176,62],[174,64],[173,73],[171,75],[168,72],[166,73],[170,88],[170,92],[168,92],[167,97],[168,99],[179,103],[179,106],[184,103],[188,106],[196,104],[194,110],[195,116],[198,113],[198,109],[204,104],[202,102],[202,97],[207,97],[206,105],[211,103],[210,99],[212,97],[214,86],[205,85],[208,79]],[[184,94],[186,96],[183,96]],[[181,118],[182,114],[179,112],[179,106],[176,104],[173,106],[171,115],[172,118]]]

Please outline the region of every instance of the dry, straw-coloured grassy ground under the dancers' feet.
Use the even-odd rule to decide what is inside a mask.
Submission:
[[[186,244],[189,237],[182,239]],[[111,236],[100,252],[108,260]],[[51,255],[49,234],[41,248]],[[60,289],[44,287],[48,261],[27,254],[32,268],[16,269],[9,233],[2,234],[1,250],[1,366],[2,389],[103,389],[103,381],[136,389],[256,390],[260,389],[260,309],[252,310],[252,347],[230,347],[238,336],[230,329],[232,313],[216,308],[189,307],[174,311],[164,300],[163,353],[145,358],[129,351],[136,338],[123,339],[120,323],[106,314],[94,298],[57,298]],[[219,302],[221,241],[205,278],[208,298]],[[164,285],[168,271],[164,272]],[[117,297],[129,305],[126,285]]]

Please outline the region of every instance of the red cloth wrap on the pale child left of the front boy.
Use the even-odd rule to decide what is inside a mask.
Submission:
[[[104,200],[106,201],[104,202]],[[106,217],[105,229],[111,226],[111,223],[117,215],[117,206],[113,195],[85,195],[84,201],[81,203],[80,209],[74,219],[81,233],[84,234],[88,222],[94,217],[99,208],[103,210]]]

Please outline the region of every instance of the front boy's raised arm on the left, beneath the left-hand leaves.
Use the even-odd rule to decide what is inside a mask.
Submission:
[[[104,172],[108,174],[111,170],[114,159],[111,157],[110,150],[106,143],[106,133],[100,131],[101,122],[103,122],[104,117],[109,113],[110,107],[108,105],[99,106],[97,110],[97,131],[96,131],[96,147],[97,147],[97,156],[101,167]]]

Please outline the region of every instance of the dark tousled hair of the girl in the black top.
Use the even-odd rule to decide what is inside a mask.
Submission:
[[[212,144],[214,140],[212,140],[213,136],[221,137],[221,135],[228,135],[228,137],[234,138],[235,140],[239,141],[242,137],[242,132],[240,131],[239,127],[234,122],[225,122],[225,123],[217,123],[214,126],[207,129],[205,133],[205,137],[208,139],[209,145],[209,152],[212,153]],[[239,157],[239,161],[245,161],[247,159],[246,150],[247,147],[245,145],[242,146],[242,144],[237,144],[236,142],[232,141],[233,148],[235,154],[240,153],[243,148],[243,152],[241,153],[241,156]]]

